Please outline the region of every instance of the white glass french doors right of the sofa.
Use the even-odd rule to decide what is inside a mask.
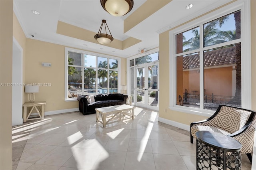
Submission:
[[[158,63],[146,63],[135,67],[134,102],[136,106],[158,110]]]

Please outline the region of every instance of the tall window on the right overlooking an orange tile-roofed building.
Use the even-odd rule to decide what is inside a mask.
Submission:
[[[242,45],[245,39],[242,29],[246,27],[241,26],[242,22],[246,23],[243,5],[229,14],[217,14],[195,20],[194,26],[189,23],[170,32],[174,42],[170,46],[170,51],[174,51],[170,55],[174,61],[171,74],[175,77],[175,84],[171,85],[174,97],[170,100],[173,108],[214,111],[220,104],[245,107],[248,101],[242,95],[242,92],[248,94],[242,77],[250,79],[246,78],[250,68],[241,69],[247,63],[243,57],[250,60],[248,55],[242,55],[246,53]],[[207,19],[211,16],[217,17]]]

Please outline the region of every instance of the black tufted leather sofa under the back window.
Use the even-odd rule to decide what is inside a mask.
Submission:
[[[76,99],[79,101],[79,111],[83,115],[96,113],[95,109],[114,105],[126,104],[127,95],[120,93],[100,94],[94,96],[95,102],[88,105],[87,95],[80,95]]]

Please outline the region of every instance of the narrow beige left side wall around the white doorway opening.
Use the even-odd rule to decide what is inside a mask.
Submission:
[[[26,36],[20,26],[20,23],[16,17],[16,15],[13,13],[13,37],[17,40],[17,42],[19,43],[19,45],[22,47],[23,52],[22,52],[22,78],[23,81],[22,83],[25,83],[25,76],[26,76],[26,72],[25,72],[25,59],[26,59]],[[24,93],[24,87],[23,87],[23,101],[22,103],[25,103],[25,93]]]

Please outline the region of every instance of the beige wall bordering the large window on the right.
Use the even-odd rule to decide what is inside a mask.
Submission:
[[[256,89],[253,88],[256,85],[256,67],[254,66],[256,63],[256,1],[251,1],[251,47],[252,47],[252,109],[256,109]],[[191,122],[200,121],[206,119],[207,117],[193,115],[188,113],[182,113],[178,111],[173,111],[168,109],[169,107],[169,95],[170,94],[170,86],[169,86],[169,32],[170,30],[163,32],[159,37],[159,51],[161,55],[160,63],[159,63],[159,73],[160,73],[160,89],[165,89],[164,94],[160,93],[160,103],[159,103],[159,116],[168,119],[171,121],[175,121],[178,123],[182,123],[185,125],[190,125]],[[163,74],[164,73],[164,74]],[[164,82],[164,83],[162,83]],[[172,82],[171,82],[172,83]],[[166,109],[166,111],[165,111]]]

